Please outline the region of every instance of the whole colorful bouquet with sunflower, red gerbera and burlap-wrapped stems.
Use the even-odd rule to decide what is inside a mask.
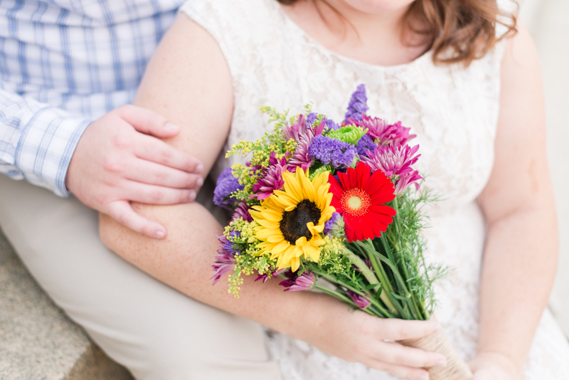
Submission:
[[[401,122],[366,115],[366,101],[360,85],[341,125],[310,106],[293,117],[262,107],[273,132],[234,144],[226,157],[250,161],[225,169],[214,191],[233,210],[214,284],[228,273],[238,297],[242,275],[280,276],[285,291],[318,290],[376,317],[432,317],[432,283],[445,268],[422,256],[421,207],[433,198],[419,191],[419,146]],[[472,378],[442,332],[401,343],[447,357],[431,379]]]

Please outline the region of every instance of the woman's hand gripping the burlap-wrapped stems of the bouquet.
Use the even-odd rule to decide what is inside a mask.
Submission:
[[[425,337],[440,329],[436,321],[381,319],[350,310],[332,299],[322,300],[312,310],[324,311],[318,329],[303,340],[327,354],[357,361],[403,379],[429,379],[425,368],[445,366],[442,354],[405,347],[394,341]],[[328,305],[325,305],[328,304]]]

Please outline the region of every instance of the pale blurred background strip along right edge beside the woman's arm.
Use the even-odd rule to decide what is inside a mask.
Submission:
[[[557,203],[560,256],[550,307],[569,337],[569,0],[520,0],[536,43],[546,97],[549,168]]]

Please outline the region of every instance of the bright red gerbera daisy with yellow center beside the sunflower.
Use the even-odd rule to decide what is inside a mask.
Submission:
[[[344,216],[346,238],[363,241],[380,237],[393,221],[395,210],[385,206],[395,198],[390,179],[381,171],[371,174],[368,164],[358,162],[356,169],[338,173],[340,181],[329,177],[330,192],[334,194],[331,206]]]

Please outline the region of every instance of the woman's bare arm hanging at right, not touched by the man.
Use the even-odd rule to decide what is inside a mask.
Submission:
[[[478,358],[517,378],[551,292],[558,241],[541,75],[523,26],[510,41],[501,75],[496,161],[479,199],[488,238]]]

